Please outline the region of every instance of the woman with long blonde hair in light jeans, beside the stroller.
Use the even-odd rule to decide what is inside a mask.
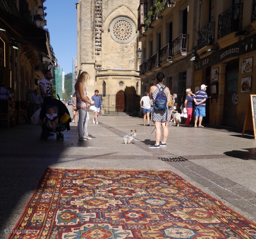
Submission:
[[[89,85],[90,75],[83,71],[77,79],[75,84],[76,91],[76,109],[79,112],[78,119],[78,140],[87,141],[88,139],[92,139],[88,136],[88,122],[89,122],[89,111],[87,107],[87,103],[90,105],[94,104],[94,101],[90,100],[87,95],[86,86]],[[83,131],[84,127],[84,131]]]

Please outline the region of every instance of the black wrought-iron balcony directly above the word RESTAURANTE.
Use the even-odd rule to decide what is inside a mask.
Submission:
[[[218,39],[242,30],[243,4],[234,4],[231,8],[219,15]]]

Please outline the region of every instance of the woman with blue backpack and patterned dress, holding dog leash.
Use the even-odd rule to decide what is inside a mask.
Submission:
[[[169,130],[167,122],[170,119],[168,113],[168,105],[170,104],[170,90],[163,85],[165,75],[159,72],[156,75],[157,85],[153,85],[149,90],[149,98],[152,100],[151,120],[156,127],[156,143],[149,146],[149,148],[166,147],[166,140],[168,138]],[[161,124],[163,127],[163,140],[161,139]]]

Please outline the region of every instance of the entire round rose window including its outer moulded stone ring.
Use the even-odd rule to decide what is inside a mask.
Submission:
[[[121,44],[132,41],[135,33],[134,22],[126,17],[116,18],[110,25],[110,34],[113,40]]]

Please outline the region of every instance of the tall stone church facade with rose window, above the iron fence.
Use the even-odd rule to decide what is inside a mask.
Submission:
[[[139,0],[81,0],[77,8],[77,72],[90,74],[89,95],[140,95]]]

